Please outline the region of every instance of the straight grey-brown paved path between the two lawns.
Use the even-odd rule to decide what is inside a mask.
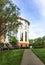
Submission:
[[[44,65],[44,64],[30,49],[26,49],[24,51],[21,65]]]

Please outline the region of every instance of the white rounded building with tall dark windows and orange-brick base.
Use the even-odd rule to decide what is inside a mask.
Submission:
[[[22,47],[29,46],[29,21],[24,18],[19,17],[19,21],[22,25],[18,28],[18,45]]]

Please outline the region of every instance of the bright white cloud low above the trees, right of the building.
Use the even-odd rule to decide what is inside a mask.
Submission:
[[[44,30],[43,30],[44,31]],[[35,38],[38,38],[38,37],[43,37],[44,34],[45,34],[45,31],[44,32],[34,32],[33,30],[30,30],[30,34],[29,34],[29,39],[35,39]]]

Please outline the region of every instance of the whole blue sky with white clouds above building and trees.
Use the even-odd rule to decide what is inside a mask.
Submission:
[[[20,8],[20,16],[30,22],[29,38],[45,35],[45,0],[12,0]]]

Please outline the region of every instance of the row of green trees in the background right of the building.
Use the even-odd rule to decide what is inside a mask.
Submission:
[[[33,47],[45,47],[45,36],[29,40]]]

